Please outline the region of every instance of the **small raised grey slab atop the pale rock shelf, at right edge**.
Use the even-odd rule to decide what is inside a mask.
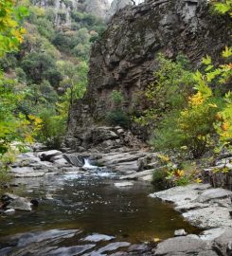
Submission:
[[[200,203],[204,203],[211,199],[225,198],[231,195],[232,195],[232,192],[218,188],[218,189],[206,190],[196,200]]]

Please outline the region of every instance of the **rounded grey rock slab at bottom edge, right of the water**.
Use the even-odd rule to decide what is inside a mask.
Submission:
[[[201,239],[191,237],[170,238],[160,244],[154,253],[155,256],[218,256],[211,244]]]

